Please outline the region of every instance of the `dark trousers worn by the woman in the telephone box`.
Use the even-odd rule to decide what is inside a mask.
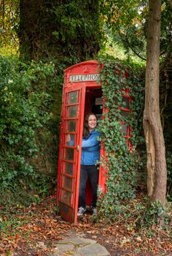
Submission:
[[[87,183],[87,177],[90,178],[91,187],[93,189],[93,207],[96,206],[97,201],[97,189],[98,189],[98,166],[95,165],[81,165],[80,170],[80,184],[79,184],[79,207],[85,208],[85,188]]]

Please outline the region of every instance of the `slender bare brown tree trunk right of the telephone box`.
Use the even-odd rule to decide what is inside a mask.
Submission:
[[[160,200],[165,205],[167,171],[159,106],[160,16],[161,0],[149,0],[144,107],[147,188],[148,195],[152,201]]]

